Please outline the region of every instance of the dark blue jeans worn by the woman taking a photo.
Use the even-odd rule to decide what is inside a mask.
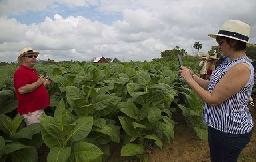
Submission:
[[[245,134],[232,134],[208,126],[208,142],[212,162],[237,162],[240,152],[249,143],[252,130]]]

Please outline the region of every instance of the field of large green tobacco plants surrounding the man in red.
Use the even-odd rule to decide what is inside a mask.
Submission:
[[[198,73],[198,62],[184,62]],[[0,161],[37,162],[50,148],[48,162],[104,162],[112,142],[121,156],[145,161],[149,144],[160,149],[175,136],[177,110],[195,138],[206,139],[204,102],[178,75],[178,62],[122,62],[36,65],[49,76],[50,106],[41,123],[26,126],[16,113],[13,74],[0,66]]]

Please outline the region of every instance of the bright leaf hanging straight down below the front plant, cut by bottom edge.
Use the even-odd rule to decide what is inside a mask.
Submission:
[[[54,147],[47,156],[47,162],[66,162],[70,156],[71,147]]]

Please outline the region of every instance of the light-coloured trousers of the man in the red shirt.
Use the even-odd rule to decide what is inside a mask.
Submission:
[[[41,115],[44,114],[44,109],[36,110],[34,112],[28,112],[28,114],[22,115],[24,121],[26,122],[27,126],[34,124],[34,123],[40,123],[38,118],[41,117]]]

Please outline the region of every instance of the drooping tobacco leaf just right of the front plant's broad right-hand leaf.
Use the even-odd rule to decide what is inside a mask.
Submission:
[[[114,142],[120,142],[120,126],[115,126],[112,124],[106,124],[102,129],[100,128],[93,128],[92,131],[100,132],[103,134],[107,134],[110,136],[110,139]]]

